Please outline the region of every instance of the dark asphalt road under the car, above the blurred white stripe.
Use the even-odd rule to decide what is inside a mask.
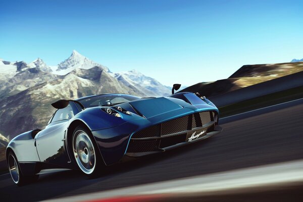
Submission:
[[[221,120],[217,136],[109,167],[87,179],[77,171],[41,175],[23,187],[0,176],[1,201],[37,201],[303,159],[303,99]]]

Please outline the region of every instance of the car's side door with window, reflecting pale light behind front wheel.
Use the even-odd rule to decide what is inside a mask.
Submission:
[[[51,123],[36,138],[37,151],[41,162],[70,167],[70,159],[66,151],[65,133],[69,120],[77,114],[78,108],[73,102],[54,114]]]

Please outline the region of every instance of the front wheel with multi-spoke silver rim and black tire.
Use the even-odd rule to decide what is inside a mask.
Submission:
[[[84,175],[94,178],[102,173],[105,165],[90,130],[76,127],[71,148],[74,161]]]

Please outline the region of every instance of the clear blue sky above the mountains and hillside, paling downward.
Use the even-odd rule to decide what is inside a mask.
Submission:
[[[3,1],[0,58],[57,65],[76,49],[165,85],[303,58],[303,1]]]

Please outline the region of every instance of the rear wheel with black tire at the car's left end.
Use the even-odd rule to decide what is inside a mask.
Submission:
[[[38,180],[39,175],[24,176],[22,174],[20,166],[19,166],[19,162],[17,160],[16,155],[13,153],[13,151],[9,152],[7,162],[8,162],[11,177],[13,179],[13,182],[16,185],[22,186],[22,185],[28,184],[30,182],[35,182]]]

